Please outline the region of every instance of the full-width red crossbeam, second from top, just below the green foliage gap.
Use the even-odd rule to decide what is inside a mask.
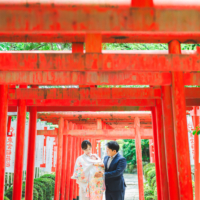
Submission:
[[[93,44],[95,45],[95,44]],[[94,51],[93,51],[94,52]],[[145,53],[145,52],[144,52]],[[1,71],[199,71],[199,54],[1,52]],[[162,53],[162,51],[160,51]]]

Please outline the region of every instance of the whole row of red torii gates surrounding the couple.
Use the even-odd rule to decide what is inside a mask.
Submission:
[[[126,6],[68,5],[50,0],[0,2],[0,41],[72,43],[69,52],[0,53],[0,200],[4,194],[8,111],[18,112],[15,200],[21,200],[26,112],[30,112],[26,200],[33,198],[36,122],[37,112],[41,111],[112,111],[113,114],[115,111],[151,111],[158,199],[193,199],[186,110],[200,105],[200,90],[185,85],[200,85],[200,51],[181,51],[181,43],[200,42],[200,7],[198,2],[191,6],[160,2],[158,5],[152,0],[132,0]],[[189,5],[189,1],[185,2]],[[102,43],[168,43],[169,51],[102,51]],[[44,85],[79,85],[79,88],[38,88]],[[149,87],[97,87],[100,85]],[[199,126],[197,111],[194,109],[195,127]],[[139,147],[143,134],[149,133],[138,117],[134,118],[132,131],[118,133],[117,129],[109,130],[109,125],[103,129],[106,122],[96,119],[97,130],[88,130],[84,137],[117,139],[126,138],[128,134],[128,138],[136,138]],[[69,145],[80,143],[83,132],[74,131],[77,135],[70,136],[73,124],[65,122],[69,119],[64,116],[50,120],[59,124],[58,131],[42,132],[58,134],[54,199],[68,200],[73,195],[65,192],[63,197],[60,191],[63,188],[61,171],[65,169],[62,168],[62,164],[65,165],[62,148],[66,148],[63,144],[68,137],[67,148],[72,151]],[[198,148],[198,136],[195,141]],[[137,159],[141,158],[139,149]],[[79,150],[77,148],[75,154],[78,155]],[[140,163],[138,161],[139,178],[142,177]],[[195,165],[197,169],[198,163]],[[200,198],[198,173],[196,170],[197,200]],[[67,177],[66,181],[69,174]],[[143,200],[140,180],[139,184]],[[75,191],[73,181],[69,186]]]

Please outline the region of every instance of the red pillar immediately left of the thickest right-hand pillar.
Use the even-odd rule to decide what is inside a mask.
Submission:
[[[170,200],[179,200],[171,86],[162,86],[165,155]]]

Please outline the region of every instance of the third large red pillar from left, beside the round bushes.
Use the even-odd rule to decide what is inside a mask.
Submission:
[[[25,199],[33,199],[34,171],[35,171],[35,147],[37,135],[37,107],[30,108],[28,155],[26,170],[26,190]]]

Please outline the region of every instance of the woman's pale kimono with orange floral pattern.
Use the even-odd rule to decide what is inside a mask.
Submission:
[[[74,167],[74,174],[71,177],[79,184],[80,200],[102,200],[105,190],[103,177],[95,178],[96,172],[104,172],[101,159],[92,160],[86,154],[79,156]]]

